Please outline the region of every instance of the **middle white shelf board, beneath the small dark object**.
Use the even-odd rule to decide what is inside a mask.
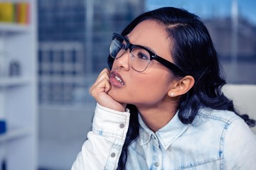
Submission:
[[[8,86],[21,86],[29,84],[31,81],[28,77],[11,77],[11,78],[0,78],[0,88]]]

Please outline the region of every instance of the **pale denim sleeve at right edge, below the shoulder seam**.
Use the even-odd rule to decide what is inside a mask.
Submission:
[[[244,120],[230,124],[223,154],[225,169],[256,169],[256,135]]]

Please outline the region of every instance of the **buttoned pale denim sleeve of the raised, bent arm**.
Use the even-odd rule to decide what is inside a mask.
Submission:
[[[92,131],[88,132],[71,169],[117,169],[128,127],[128,109],[119,112],[97,103]]]

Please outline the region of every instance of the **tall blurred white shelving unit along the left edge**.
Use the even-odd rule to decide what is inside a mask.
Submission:
[[[28,7],[28,23],[0,22],[0,118],[7,124],[6,132],[0,135],[0,166],[4,157],[8,169],[35,170],[38,169],[37,0],[4,1],[17,8],[18,3],[24,9]],[[11,64],[15,61],[22,72],[17,71],[18,67],[13,69]]]

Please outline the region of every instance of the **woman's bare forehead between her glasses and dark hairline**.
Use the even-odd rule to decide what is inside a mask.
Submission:
[[[171,45],[168,34],[162,23],[146,20],[139,23],[127,38],[132,44],[149,48],[166,60],[171,61]]]

